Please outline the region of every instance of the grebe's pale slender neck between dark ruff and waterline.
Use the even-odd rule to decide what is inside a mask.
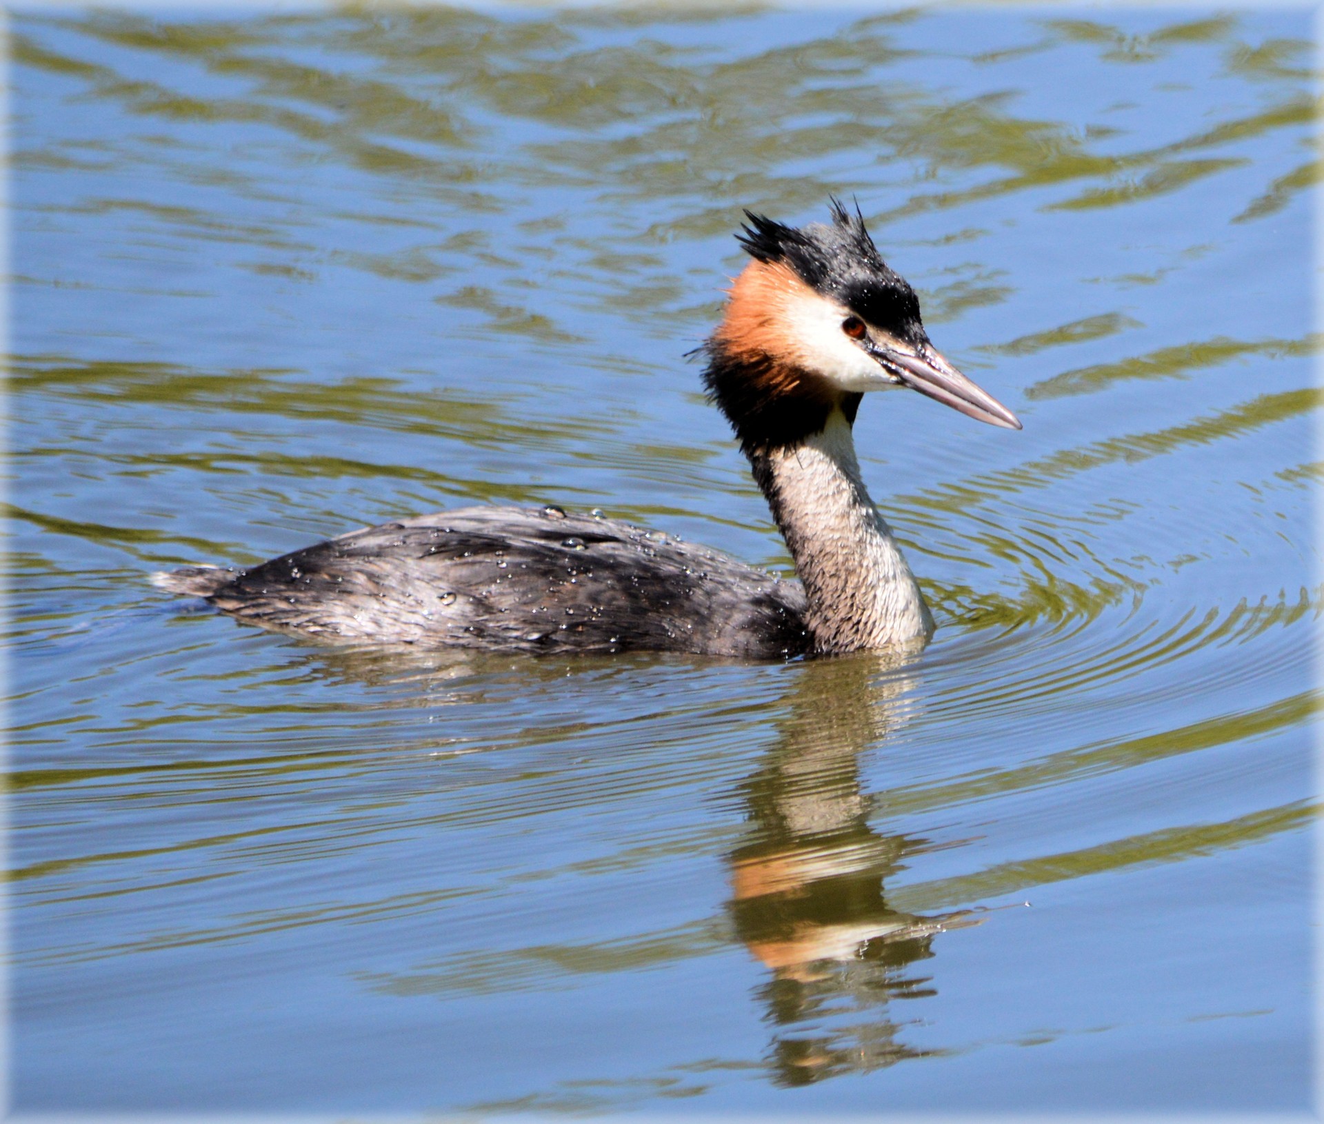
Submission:
[[[748,455],[805,585],[818,650],[928,639],[933,618],[865,490],[845,414],[833,410],[821,432],[794,445]]]

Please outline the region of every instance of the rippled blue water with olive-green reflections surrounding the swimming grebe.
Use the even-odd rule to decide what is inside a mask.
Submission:
[[[1308,13],[11,32],[17,1108],[1308,1105]],[[489,500],[786,567],[683,352],[830,192],[1025,422],[865,402],[918,662],[147,584]]]

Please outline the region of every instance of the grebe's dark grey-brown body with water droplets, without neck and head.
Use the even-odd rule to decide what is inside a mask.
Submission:
[[[331,642],[526,651],[806,651],[805,594],[707,547],[560,508],[466,507],[158,585]]]

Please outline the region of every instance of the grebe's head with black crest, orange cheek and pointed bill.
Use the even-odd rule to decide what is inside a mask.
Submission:
[[[745,212],[753,261],[707,343],[706,383],[748,447],[793,444],[859,395],[910,387],[978,421],[1019,429],[1006,406],[929,343],[919,298],[878,253],[858,208],[831,225],[785,226]]]

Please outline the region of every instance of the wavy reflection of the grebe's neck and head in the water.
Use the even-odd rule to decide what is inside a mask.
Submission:
[[[924,839],[869,825],[859,755],[906,720],[904,657],[849,655],[800,669],[780,737],[744,785],[751,831],[731,855],[730,911],[771,972],[759,989],[776,1027],[782,1084],[867,1072],[924,1050],[899,1038],[894,1000],[935,994],[919,962],[933,935],[976,924],[968,911],[888,907],[886,879]]]

